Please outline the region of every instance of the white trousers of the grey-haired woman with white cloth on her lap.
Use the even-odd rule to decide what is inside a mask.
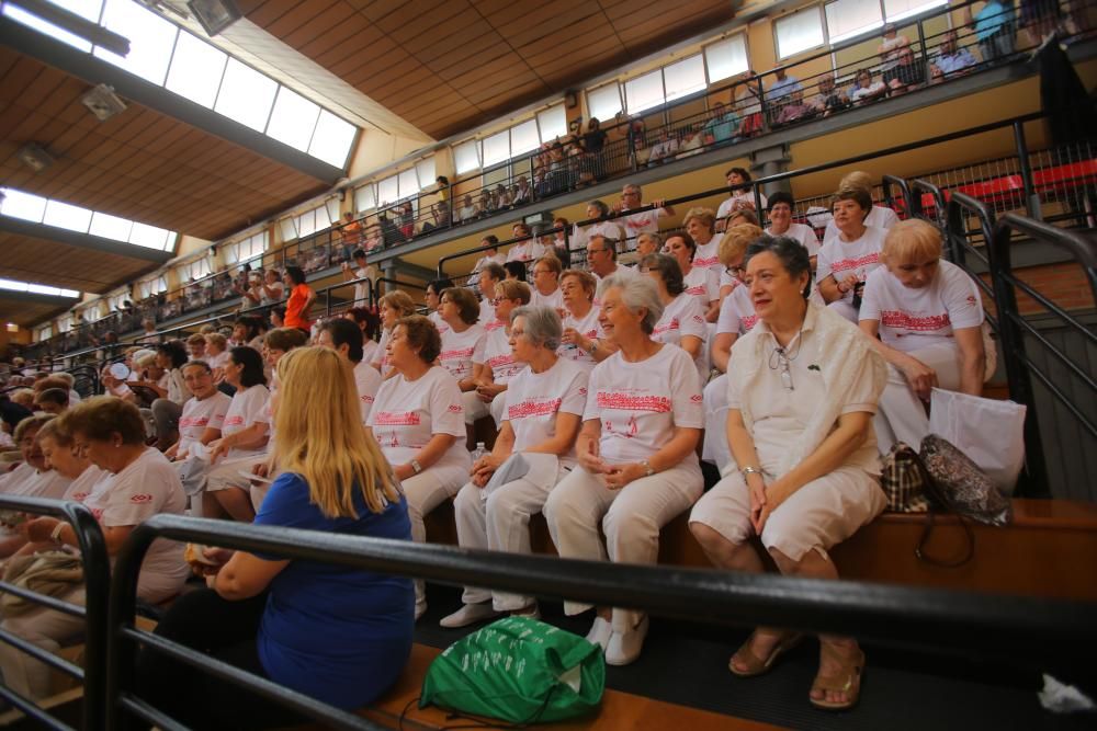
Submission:
[[[546,465],[545,461],[550,464]],[[524,477],[501,484],[490,492],[468,482],[461,488],[453,501],[457,544],[462,548],[527,556],[532,553],[530,516],[544,507],[548,493],[559,478],[566,475],[567,468],[559,467],[558,460],[552,458],[542,460],[540,465],[531,460],[531,469]],[[533,596],[473,586],[466,586],[461,598],[465,604],[480,604],[490,599],[496,612],[523,609],[535,601]]]

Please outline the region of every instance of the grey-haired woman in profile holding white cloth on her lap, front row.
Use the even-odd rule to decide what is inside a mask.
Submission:
[[[556,354],[563,328],[554,309],[520,307],[510,321],[513,359],[523,369],[502,397],[507,409],[495,448],[473,465],[453,510],[462,547],[530,553],[530,516],[575,467],[588,372]],[[538,614],[532,596],[470,586],[462,601],[442,627],[465,627],[502,612]]]

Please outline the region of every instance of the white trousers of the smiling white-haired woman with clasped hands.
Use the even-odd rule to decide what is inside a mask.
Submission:
[[[544,506],[548,532],[561,558],[619,563],[655,563],[659,530],[697,501],[704,489],[697,457],[610,490],[600,477],[576,467],[548,495]],[[601,523],[606,545],[598,535]],[[579,614],[589,604],[565,602],[564,612]],[[613,609],[613,629],[625,632],[640,624],[643,613]]]

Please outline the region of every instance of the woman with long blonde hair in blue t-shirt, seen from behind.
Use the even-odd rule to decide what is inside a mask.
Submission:
[[[282,472],[256,525],[407,540],[405,500],[359,426],[346,366],[309,347],[283,358],[278,374],[274,457]],[[372,703],[399,677],[411,651],[408,579],[247,551],[204,553],[223,566],[195,564],[210,574],[210,589],[174,603],[157,625],[160,637],[346,710]],[[136,675],[143,698],[191,728],[304,722],[157,652],[140,653]]]

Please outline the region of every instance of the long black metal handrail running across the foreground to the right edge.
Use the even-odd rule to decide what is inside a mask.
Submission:
[[[475,584],[542,597],[627,606],[713,625],[750,626],[764,621],[812,632],[856,635],[868,641],[920,651],[949,654],[974,651],[1034,666],[1088,659],[1097,650],[1097,623],[1093,621],[1097,607],[1077,602],[624,566],[156,515],[135,528],[123,546],[111,586],[106,726],[115,730],[127,728],[131,713],[146,721],[166,720],[134,694],[138,643],[207,669],[227,682],[335,728],[372,728],[358,717],[240,671],[234,672],[197,652],[135,629],[137,572],[145,552],[157,538],[412,575],[449,585]]]

